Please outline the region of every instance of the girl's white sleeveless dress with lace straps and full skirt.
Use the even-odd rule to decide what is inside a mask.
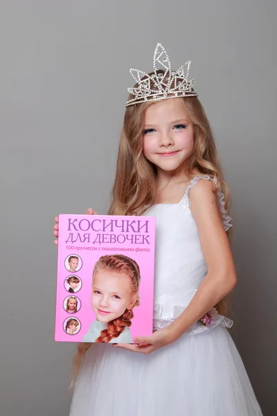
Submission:
[[[179,204],[157,204],[155,216],[154,329],[181,313],[206,275],[189,190]],[[227,230],[224,195],[217,192]],[[212,314],[213,315],[213,314]],[[247,372],[226,327],[212,316],[209,327],[194,324],[174,343],[151,354],[93,344],[84,358],[71,416],[262,416]],[[143,335],[143,334],[141,334]]]

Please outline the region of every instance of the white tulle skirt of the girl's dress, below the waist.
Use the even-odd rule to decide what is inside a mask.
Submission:
[[[149,355],[94,344],[87,351],[71,416],[261,416],[231,336],[223,327]]]

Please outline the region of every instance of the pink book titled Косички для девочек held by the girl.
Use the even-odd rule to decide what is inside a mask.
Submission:
[[[154,217],[59,216],[55,341],[152,333],[154,241]]]

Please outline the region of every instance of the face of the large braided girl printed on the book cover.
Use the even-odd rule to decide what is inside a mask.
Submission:
[[[99,322],[119,318],[126,309],[132,309],[137,295],[132,293],[128,275],[98,270],[93,277],[91,307]]]

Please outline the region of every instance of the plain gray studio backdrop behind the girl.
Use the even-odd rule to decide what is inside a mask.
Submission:
[[[53,217],[107,212],[128,69],[151,71],[157,42],[173,68],[192,60],[215,132],[233,200],[235,342],[276,415],[276,1],[0,8],[1,416],[68,415],[74,345],[53,341]]]

